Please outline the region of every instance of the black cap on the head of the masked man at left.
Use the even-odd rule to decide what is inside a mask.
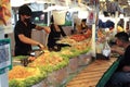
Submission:
[[[22,7],[20,7],[18,9],[18,14],[20,15],[31,15],[31,10],[27,4],[23,4]]]

